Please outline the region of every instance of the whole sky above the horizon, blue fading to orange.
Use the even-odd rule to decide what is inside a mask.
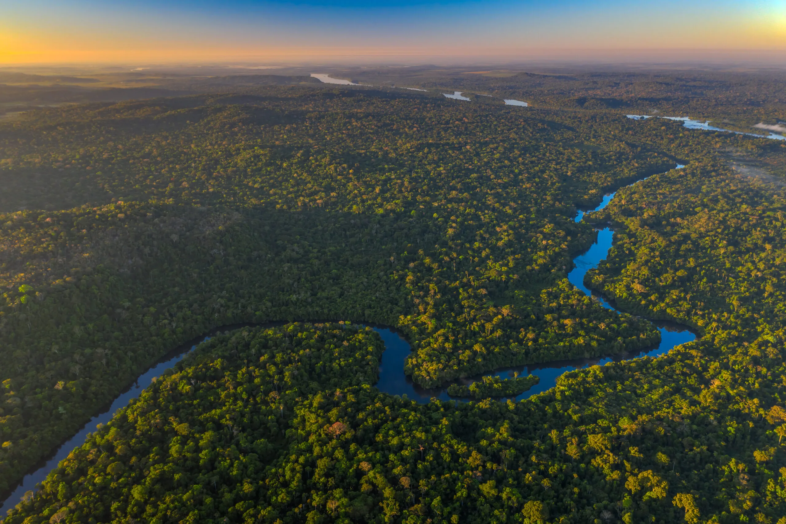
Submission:
[[[786,63],[786,0],[0,0],[0,65]]]

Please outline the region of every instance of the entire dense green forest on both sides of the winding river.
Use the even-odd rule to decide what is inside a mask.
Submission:
[[[245,330],[156,383],[8,520],[777,522],[783,187],[727,162],[784,148],[608,111],[307,87],[2,124],[0,491],[157,358],[231,323],[385,323],[421,386],[652,347],[648,321],[567,282],[587,222],[620,228],[590,286],[703,335],[520,403],[416,406],[373,389],[373,333]],[[473,397],[498,396],[483,384]]]

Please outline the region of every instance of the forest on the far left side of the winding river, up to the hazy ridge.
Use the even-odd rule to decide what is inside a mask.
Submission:
[[[662,154],[544,147],[578,133],[504,108],[492,122],[429,99],[275,94],[50,109],[8,125],[7,198],[27,187],[50,207],[57,186],[36,194],[39,174],[82,188],[74,198],[115,200],[2,220],[2,351],[14,361],[2,378],[7,400],[24,402],[3,414],[9,485],[163,352],[215,326],[387,323],[412,341],[406,371],[424,386],[658,340],[565,271],[593,238],[574,201],[672,167]]]

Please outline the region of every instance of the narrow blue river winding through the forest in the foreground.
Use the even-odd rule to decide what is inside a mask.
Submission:
[[[677,168],[683,167],[685,166],[677,166]],[[605,195],[603,197],[603,201],[601,201],[601,204],[591,211],[600,211],[606,207],[608,203],[612,201],[614,195],[615,193]],[[575,221],[580,222],[584,217],[584,214],[585,211],[578,210]],[[612,240],[614,237],[614,231],[612,231],[612,229],[609,227],[597,229],[596,231],[596,242],[593,243],[593,245],[591,245],[589,249],[586,250],[586,252],[575,257],[573,260],[575,263],[575,268],[567,275],[567,279],[588,296],[592,295],[593,293],[591,293],[590,290],[584,286],[584,275],[586,275],[586,272],[589,271],[589,269],[597,267],[597,264],[606,258],[608,255],[608,250],[612,247]],[[612,307],[611,304],[608,304],[608,302],[605,301],[603,297],[596,295],[595,298],[604,308],[617,311],[614,307]],[[552,388],[556,385],[556,379],[567,371],[574,371],[576,369],[593,365],[602,366],[608,362],[629,360],[633,358],[639,358],[641,356],[663,355],[663,353],[668,352],[670,349],[674,348],[674,346],[684,344],[685,342],[692,341],[696,338],[696,335],[693,334],[690,330],[687,330],[685,327],[678,324],[660,322],[655,322],[655,324],[660,331],[661,341],[657,348],[646,352],[640,352],[638,354],[617,355],[604,359],[597,358],[563,360],[560,362],[509,367],[484,375],[496,375],[500,378],[510,378],[513,376],[514,371],[517,371],[520,375],[527,375],[530,373],[538,375],[538,377],[540,377],[540,383],[520,394],[515,399],[523,400],[527,397],[531,397],[534,394],[542,393],[545,390]],[[211,334],[245,326],[250,326],[250,324],[237,324],[233,326],[221,327],[217,330],[214,330]],[[400,397],[409,398],[410,400],[416,400],[422,404],[428,403],[432,398],[438,398],[439,400],[455,400],[447,394],[446,388],[422,389],[421,387],[414,384],[410,377],[404,375],[403,371],[406,357],[411,352],[410,344],[404,340],[401,335],[390,328],[373,326],[373,330],[380,334],[380,337],[385,344],[385,351],[382,356],[382,363],[380,364],[380,378],[379,381],[376,382],[377,389],[380,389],[380,391],[384,393],[390,393],[391,395],[398,395]],[[160,360],[159,363],[156,363],[156,365],[151,367],[148,371],[145,371],[145,373],[139,375],[137,382],[135,382],[133,386],[128,388],[126,391],[121,393],[119,397],[112,401],[112,404],[108,406],[105,411],[90,419],[90,422],[86,423],[79,433],[75,434],[63,445],[61,445],[60,448],[57,449],[57,452],[51,459],[46,461],[45,464],[43,464],[31,474],[26,475],[22,484],[19,485],[17,489],[15,489],[13,493],[11,493],[8,498],[3,501],[2,506],[0,507],[5,507],[7,510],[10,507],[14,507],[16,504],[19,504],[20,500],[22,500],[22,497],[24,496],[24,493],[35,489],[35,485],[37,485],[39,482],[42,482],[46,478],[46,475],[49,474],[49,472],[53,470],[54,467],[57,467],[57,463],[68,456],[68,453],[70,453],[72,449],[83,445],[87,434],[94,430],[97,424],[107,423],[110,419],[112,419],[112,416],[119,408],[127,406],[129,400],[138,397],[139,393],[141,393],[141,390],[145,389],[145,387],[152,383],[153,378],[156,378],[157,376],[161,375],[163,371],[173,367],[174,364],[178,363],[189,352],[195,349],[196,345],[198,345],[201,341],[208,340],[208,338],[210,337],[200,337],[188,344],[180,346],[174,352],[171,352],[169,356],[164,357],[163,360]],[[461,382],[469,384],[474,380],[478,380],[481,378],[481,376],[482,375],[462,379]]]

